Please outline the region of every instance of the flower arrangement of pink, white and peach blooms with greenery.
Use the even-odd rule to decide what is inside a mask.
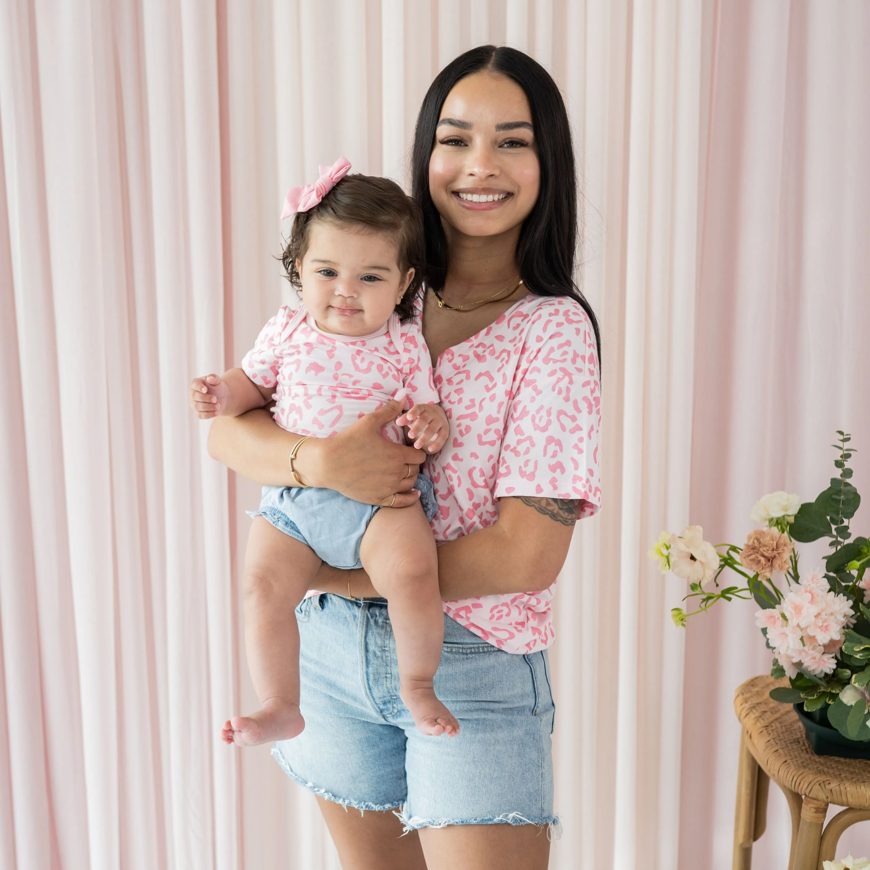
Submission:
[[[806,713],[827,714],[850,740],[870,740],[870,542],[852,539],[849,525],[860,505],[848,465],[854,448],[846,432],[837,435],[839,477],[803,504],[786,492],[766,495],[750,513],[764,528],[750,532],[742,547],[710,544],[699,525],[689,525],[679,535],[662,532],[649,555],[663,573],[688,580],[684,600],[699,599],[694,611],[673,608],[677,626],[719,600],[754,599],[755,624],[774,654],[771,676],[791,683],[773,689],[771,698],[803,703]],[[801,576],[795,542],[822,538],[831,539],[832,550],[824,569]],[[745,585],[720,584],[726,569]]]

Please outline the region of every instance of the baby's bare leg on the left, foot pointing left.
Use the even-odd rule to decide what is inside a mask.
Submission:
[[[263,705],[224,725],[225,743],[256,746],[290,740],[305,727],[299,713],[299,628],[294,610],[311,588],[320,559],[263,517],[255,517],[244,554],[244,646]]]

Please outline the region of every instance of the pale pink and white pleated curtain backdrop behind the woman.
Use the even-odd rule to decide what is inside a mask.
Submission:
[[[682,584],[646,549],[809,498],[836,428],[866,486],[868,37],[862,0],[0,4],[0,867],[338,868],[311,795],[217,740],[253,703],[258,492],[185,388],[286,297],[286,188],[338,155],[404,181],[426,87],[487,42],[566,95],[605,342],[551,866],[727,867],[733,689],[768,660],[751,607],[675,629]],[[787,839],[772,792],[760,866]]]

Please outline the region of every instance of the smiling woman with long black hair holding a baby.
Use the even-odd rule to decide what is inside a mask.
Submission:
[[[413,195],[422,326],[451,439],[428,458],[386,441],[399,412],[387,405],[306,441],[295,467],[306,484],[401,506],[425,461],[446,614],[436,687],[462,730],[415,733],[385,602],[365,572],[325,567],[324,594],[298,609],[307,726],[274,754],[318,795],[343,867],[543,868],[556,821],[551,587],[600,499],[598,325],[572,283],[571,134],[546,71],[493,46],[445,67],[418,117]],[[293,485],[297,440],[259,411],[216,420],[209,445],[248,478]]]

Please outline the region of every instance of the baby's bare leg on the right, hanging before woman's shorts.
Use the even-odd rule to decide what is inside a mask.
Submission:
[[[459,723],[432,686],[441,659],[444,611],[435,539],[421,505],[381,508],[365,530],[359,559],[375,589],[387,599],[396,638],[399,696],[423,733],[458,734]]]

